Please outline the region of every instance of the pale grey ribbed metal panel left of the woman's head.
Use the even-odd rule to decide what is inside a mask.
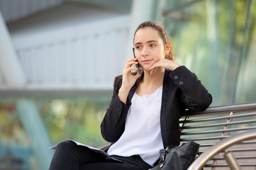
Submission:
[[[128,15],[12,38],[27,89],[112,90],[126,57]]]

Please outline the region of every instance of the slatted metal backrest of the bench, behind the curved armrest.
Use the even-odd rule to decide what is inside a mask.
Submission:
[[[249,129],[256,129],[256,102],[210,107],[202,112],[186,111],[180,119],[181,143],[192,140],[200,144],[200,153],[220,140]],[[228,148],[244,170],[256,170],[256,139]],[[204,170],[230,170],[224,150]]]

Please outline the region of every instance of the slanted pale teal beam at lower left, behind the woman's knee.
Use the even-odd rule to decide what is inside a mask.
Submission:
[[[19,99],[16,102],[17,113],[29,137],[30,146],[40,170],[47,170],[52,160],[53,150],[40,114],[33,101]]]

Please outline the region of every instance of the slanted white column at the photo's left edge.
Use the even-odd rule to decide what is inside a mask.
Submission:
[[[22,89],[26,78],[18,61],[2,13],[0,11],[0,72],[5,88]]]

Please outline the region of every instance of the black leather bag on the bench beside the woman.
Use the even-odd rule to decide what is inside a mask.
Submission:
[[[188,141],[180,146],[160,150],[159,164],[149,170],[186,170],[198,155],[199,144]]]

